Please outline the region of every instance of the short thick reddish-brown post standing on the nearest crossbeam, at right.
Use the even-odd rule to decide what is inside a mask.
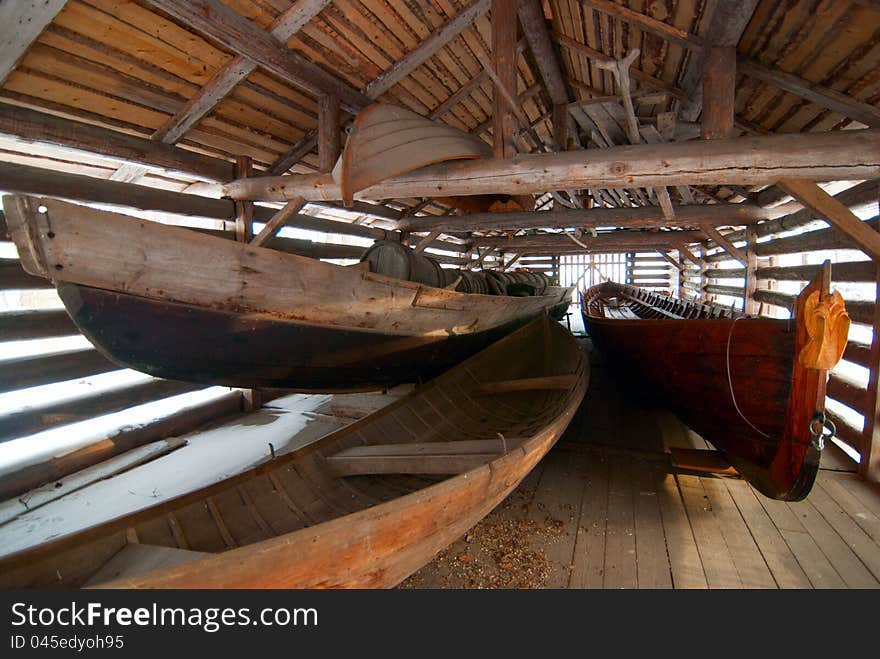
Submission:
[[[700,136],[704,140],[733,137],[736,46],[707,48],[704,58]]]

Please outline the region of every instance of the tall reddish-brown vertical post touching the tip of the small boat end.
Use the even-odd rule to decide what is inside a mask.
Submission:
[[[514,0],[492,0],[492,56],[498,81],[513,98],[516,98],[516,28],[517,3]],[[495,84],[492,94],[492,137],[496,158],[512,158],[516,155],[513,136],[516,118],[513,116],[502,92]]]

